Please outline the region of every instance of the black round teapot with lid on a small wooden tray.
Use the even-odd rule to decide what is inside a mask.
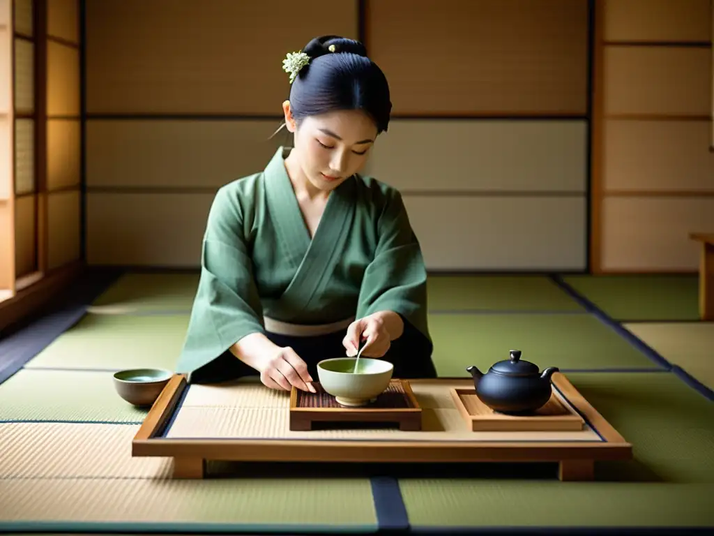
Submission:
[[[511,350],[511,359],[493,364],[486,374],[477,367],[466,369],[473,376],[476,396],[492,410],[509,415],[528,415],[548,402],[550,377],[557,367],[540,372],[538,366],[521,361],[521,350]]]

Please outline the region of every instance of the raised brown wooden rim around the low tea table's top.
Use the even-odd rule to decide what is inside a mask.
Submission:
[[[411,384],[473,384],[471,378],[409,379]],[[174,374],[152,405],[131,444],[134,457],[246,462],[563,462],[631,460],[632,445],[590,405],[563,373],[555,383],[602,441],[369,441],[325,439],[170,439],[160,437],[188,388],[187,375]]]

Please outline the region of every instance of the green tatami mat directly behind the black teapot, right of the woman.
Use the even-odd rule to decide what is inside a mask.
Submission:
[[[433,360],[439,376],[481,372],[511,349],[541,369],[652,369],[657,365],[590,314],[431,314]]]

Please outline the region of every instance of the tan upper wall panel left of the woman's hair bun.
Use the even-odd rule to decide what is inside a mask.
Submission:
[[[87,111],[282,114],[282,61],[315,36],[357,37],[355,0],[86,4]]]

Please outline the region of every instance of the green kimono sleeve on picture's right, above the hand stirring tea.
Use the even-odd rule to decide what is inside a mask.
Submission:
[[[378,240],[362,280],[357,317],[392,311],[431,340],[427,322],[426,267],[401,194],[387,193]]]

